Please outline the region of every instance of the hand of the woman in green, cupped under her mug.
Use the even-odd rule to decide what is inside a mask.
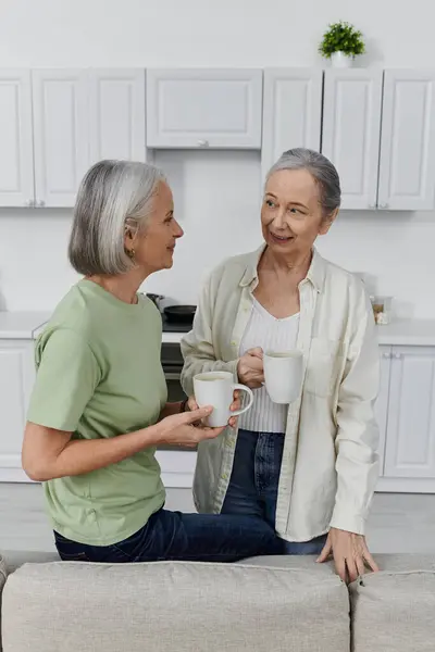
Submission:
[[[213,412],[213,408],[199,408],[192,412],[182,412],[166,416],[159,423],[160,443],[195,447],[203,439],[219,437],[225,428],[209,428],[201,421]]]

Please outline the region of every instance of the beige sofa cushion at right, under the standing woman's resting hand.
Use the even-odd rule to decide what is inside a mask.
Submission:
[[[350,586],[353,652],[433,652],[435,556],[377,555]]]

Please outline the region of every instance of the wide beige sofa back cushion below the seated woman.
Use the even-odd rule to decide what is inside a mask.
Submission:
[[[26,564],[3,591],[4,652],[348,652],[346,586],[320,566]]]

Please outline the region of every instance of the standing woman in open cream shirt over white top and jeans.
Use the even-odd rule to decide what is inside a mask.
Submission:
[[[259,516],[288,554],[323,562],[332,553],[340,577],[353,580],[365,564],[376,570],[364,532],[377,478],[378,352],[361,281],[314,249],[339,205],[338,174],[325,156],[281,156],[265,181],[264,244],[211,274],[182,342],[182,383],[190,392],[196,374],[229,371],[256,397],[238,431],[199,444],[199,511]],[[289,404],[273,403],[263,352],[295,349],[303,354],[301,390]]]

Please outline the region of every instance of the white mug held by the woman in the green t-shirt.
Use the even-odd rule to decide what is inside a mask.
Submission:
[[[249,403],[241,410],[232,412],[229,408],[234,401],[234,392],[238,389],[246,391]],[[194,378],[195,400],[200,408],[212,405],[213,412],[207,417],[207,425],[211,428],[226,426],[232,416],[239,416],[247,412],[253,403],[253,393],[245,385],[234,383],[229,372],[206,372]]]

